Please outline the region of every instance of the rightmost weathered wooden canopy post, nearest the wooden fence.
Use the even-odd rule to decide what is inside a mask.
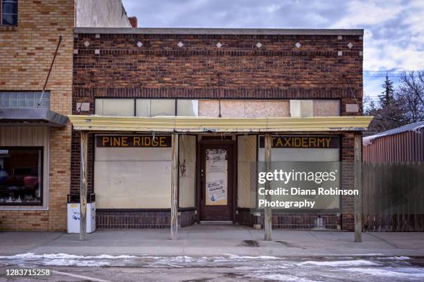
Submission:
[[[354,144],[354,170],[355,170],[355,190],[359,195],[355,195],[355,242],[362,242],[362,132],[355,132]]]

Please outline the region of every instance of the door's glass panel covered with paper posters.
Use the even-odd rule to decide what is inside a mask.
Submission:
[[[205,167],[206,206],[227,205],[227,150],[207,149]]]

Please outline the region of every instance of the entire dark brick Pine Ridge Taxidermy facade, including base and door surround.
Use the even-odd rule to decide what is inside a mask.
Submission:
[[[287,107],[283,112],[285,116],[361,116],[362,34],[363,30],[133,28],[123,31],[77,28],[73,51],[72,112],[74,115],[99,114],[96,100],[103,103],[116,99],[118,107],[121,98],[128,103],[134,99],[134,112],[137,112],[138,108],[135,108],[139,100],[143,103],[143,99],[188,99],[197,101],[198,116],[217,114],[215,102],[219,103],[219,111],[222,107],[223,118],[281,116],[273,115],[273,112],[283,111],[284,107]],[[313,110],[303,108],[308,108],[306,104],[309,102]],[[78,107],[82,105],[80,103],[85,105],[85,110]],[[268,107],[266,103],[272,103],[269,111],[247,114]],[[297,112],[296,105],[300,105]],[[245,116],[238,114],[240,107]],[[342,161],[340,185],[344,189],[353,188],[354,130],[352,127],[351,130],[313,132],[340,137],[337,154]],[[78,194],[80,187],[79,134],[78,131],[72,134],[72,194]],[[292,130],[289,134],[310,133]],[[195,137],[197,147],[201,140],[217,137],[213,133],[201,135]],[[228,132],[224,135],[236,143],[236,150],[240,150],[237,149],[241,148],[240,134]],[[89,135],[88,177],[89,193],[96,193],[97,197],[94,136],[96,134]],[[223,138],[220,136],[221,140]],[[252,140],[257,151],[259,145],[255,138]],[[255,154],[257,160],[258,153]],[[235,166],[235,169],[240,174],[240,168]],[[263,214],[252,212],[240,200],[240,175],[237,177],[239,179],[234,183],[238,200],[235,198],[234,201],[238,204],[235,204],[232,222],[263,227]],[[198,185],[199,182],[195,184]],[[179,224],[182,226],[202,220],[200,202],[196,202],[197,194],[201,192],[195,188],[194,193],[195,204],[179,206]],[[169,227],[169,220],[168,208],[145,209],[143,204],[136,209],[134,206],[125,209],[125,206],[111,205],[98,209],[97,215],[100,228],[161,228]],[[329,213],[274,213],[272,219],[274,228],[312,229],[319,225],[324,229],[345,230],[353,229],[353,220],[353,196],[342,196],[339,209]]]

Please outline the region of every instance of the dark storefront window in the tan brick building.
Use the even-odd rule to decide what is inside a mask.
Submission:
[[[0,148],[0,205],[42,205],[42,148]]]

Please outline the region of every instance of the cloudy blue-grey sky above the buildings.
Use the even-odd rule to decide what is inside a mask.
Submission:
[[[123,0],[139,27],[364,28],[364,92],[424,69],[424,0]]]

